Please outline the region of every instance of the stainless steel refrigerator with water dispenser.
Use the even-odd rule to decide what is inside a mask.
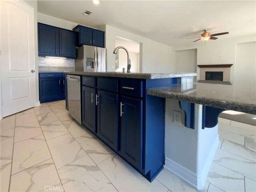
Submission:
[[[83,45],[76,49],[75,71],[102,72],[107,70],[107,49]]]

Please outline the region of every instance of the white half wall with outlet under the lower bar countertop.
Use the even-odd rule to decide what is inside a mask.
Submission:
[[[180,171],[194,187],[204,186],[212,158],[218,147],[218,126],[202,129],[202,105],[195,105],[195,129],[184,126],[184,111],[178,100],[166,99],[165,156],[166,168]],[[181,112],[182,125],[173,123],[173,111]],[[173,146],[176,146],[175,148]],[[171,161],[170,161],[171,160]],[[170,162],[179,164],[178,169]],[[169,166],[169,167],[168,167]],[[186,171],[188,169],[189,171]],[[182,171],[183,170],[183,171]],[[193,172],[192,174],[184,174]],[[175,172],[175,171],[174,171]],[[177,172],[176,172],[177,173]],[[188,176],[190,175],[190,177]]]

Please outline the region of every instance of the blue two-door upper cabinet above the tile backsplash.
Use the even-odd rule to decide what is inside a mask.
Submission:
[[[76,58],[76,33],[38,23],[38,55]]]

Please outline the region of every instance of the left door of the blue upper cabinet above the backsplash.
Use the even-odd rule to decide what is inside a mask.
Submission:
[[[58,28],[38,24],[38,55],[58,56]]]

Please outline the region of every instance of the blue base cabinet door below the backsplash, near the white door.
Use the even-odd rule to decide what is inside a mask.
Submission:
[[[60,100],[62,97],[61,78],[39,79],[39,100],[50,102]]]

